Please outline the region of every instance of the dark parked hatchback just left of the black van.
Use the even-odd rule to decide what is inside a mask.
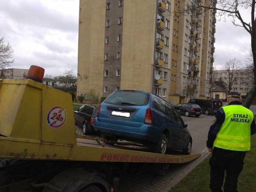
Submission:
[[[202,112],[199,105],[191,104],[191,103],[180,103],[177,104],[177,106],[180,107],[181,114],[184,114],[186,117],[189,117],[191,115],[195,115],[196,117],[199,117]]]

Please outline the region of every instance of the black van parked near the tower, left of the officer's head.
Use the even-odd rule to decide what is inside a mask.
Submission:
[[[205,113],[205,115],[216,114],[217,110],[222,107],[222,101],[218,100],[191,99],[189,103],[199,105],[202,109],[202,113]]]

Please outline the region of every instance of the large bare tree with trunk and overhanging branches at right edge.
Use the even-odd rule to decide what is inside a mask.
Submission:
[[[248,97],[244,102],[244,106],[249,108],[253,99],[256,97],[256,12],[255,12],[255,0],[209,0],[209,1],[193,1],[183,0],[184,9],[177,9],[171,12],[175,15],[188,15],[189,13],[196,11],[200,14],[207,12],[210,9],[216,10],[217,17],[219,20],[225,20],[226,17],[231,17],[232,24],[244,28],[251,36],[251,48],[252,48],[252,58],[253,58],[253,86]],[[250,21],[245,22],[244,18],[241,16],[241,10],[248,10],[247,13],[250,15]]]

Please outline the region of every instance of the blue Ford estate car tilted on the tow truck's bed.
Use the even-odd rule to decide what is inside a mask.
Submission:
[[[117,90],[100,105],[94,128],[107,141],[126,141],[151,146],[164,154],[167,148],[189,154],[192,138],[181,116],[158,95]]]

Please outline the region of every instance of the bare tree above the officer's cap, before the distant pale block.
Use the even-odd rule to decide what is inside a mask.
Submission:
[[[237,58],[226,61],[221,69],[224,73],[223,81],[226,84],[226,89],[224,89],[226,94],[230,93],[235,82],[239,82],[241,69],[241,62]]]

